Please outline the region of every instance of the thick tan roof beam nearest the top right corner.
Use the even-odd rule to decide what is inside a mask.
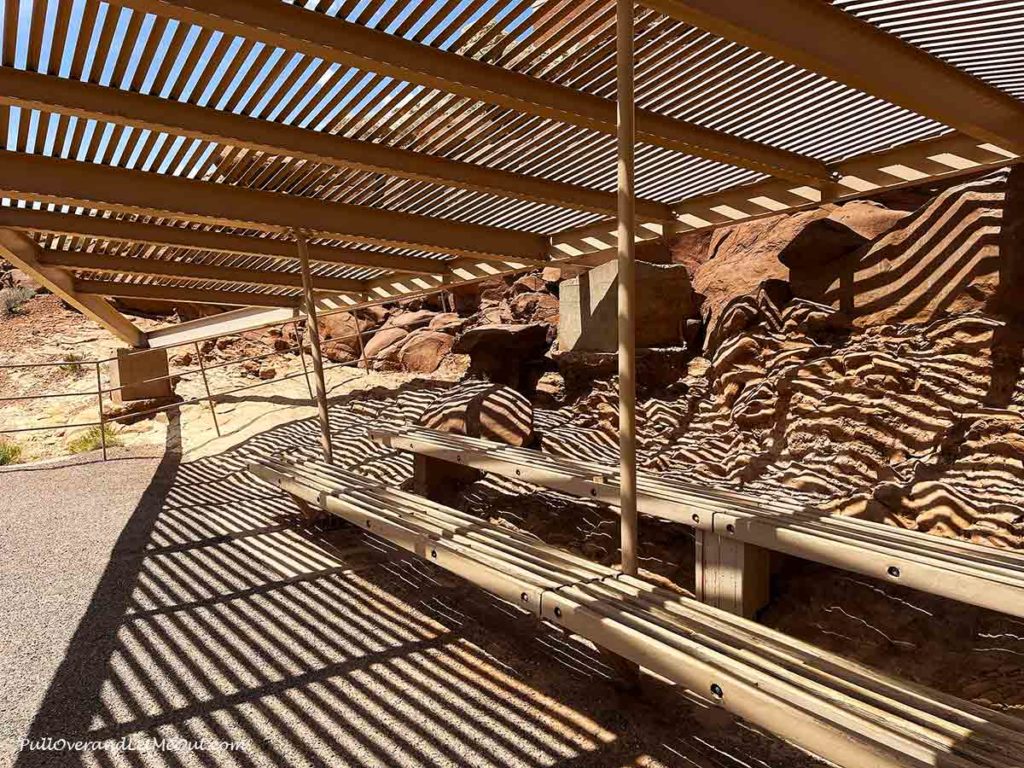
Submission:
[[[1024,103],[821,0],[641,0],[715,35],[1024,153]]]

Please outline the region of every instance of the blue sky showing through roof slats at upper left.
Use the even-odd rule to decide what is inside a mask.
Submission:
[[[94,0],[88,1],[92,2]],[[14,52],[14,66],[18,69],[27,69],[29,53],[28,41],[32,25],[33,4],[34,2],[44,2],[44,0],[19,0],[19,2],[18,43],[17,49]],[[39,69],[44,74],[69,77],[71,74],[72,60],[76,46],[81,46],[85,43],[85,41],[77,38],[79,37],[80,28],[82,26],[82,15],[86,7],[87,0],[61,0],[61,2],[72,3],[71,23],[68,34],[69,44],[62,51],[53,51],[51,50],[52,46],[50,36],[44,36]],[[299,0],[296,4],[303,3]],[[342,4],[343,0],[319,0],[318,3],[319,7],[327,8],[327,12],[330,15],[336,15]],[[371,4],[372,0],[361,0],[361,2],[359,2],[358,5],[352,9],[347,18],[355,19],[359,17],[365,9]],[[499,11],[496,15],[496,23],[503,25],[507,32],[517,36],[525,36],[529,32],[529,16],[531,14],[529,3],[512,2],[511,0],[461,0],[457,6],[446,12],[443,11],[444,3],[441,0],[393,0],[393,2],[385,1],[379,4],[380,7],[370,20],[366,23],[367,26],[377,29],[381,19],[389,11],[391,11],[395,5],[398,5],[399,7],[403,6],[384,31],[394,33],[403,23],[406,23],[410,17],[413,17],[417,20],[404,31],[404,36],[407,38],[412,38],[420,34],[423,30],[429,29],[430,32],[423,38],[422,41],[442,49],[450,48],[458,41],[461,28],[450,29],[450,25],[453,19],[468,8],[474,8],[474,10],[464,23],[465,26],[472,25],[483,14],[498,7]],[[308,2],[304,3],[304,5],[307,7],[316,6],[317,0],[308,0]],[[57,4],[55,2],[49,2],[45,23],[47,30],[53,28]],[[442,12],[443,15],[441,15]],[[96,25],[93,29],[92,37],[88,41],[89,53],[86,57],[83,69],[83,79],[98,82],[101,85],[115,87],[124,87],[128,83],[132,83],[135,90],[142,93],[153,93],[153,84],[159,71],[159,65],[166,55],[170,54],[175,56],[175,63],[171,69],[170,75],[167,77],[166,84],[163,89],[159,93],[154,94],[165,98],[169,97],[174,86],[178,84],[182,65],[187,56],[193,52],[193,48],[199,38],[200,31],[198,28],[191,28],[188,31],[183,43],[178,46],[176,53],[174,53],[171,52],[169,48],[178,24],[173,20],[170,22],[157,47],[153,66],[151,66],[144,73],[139,72],[139,59],[154,28],[155,22],[153,16],[147,16],[143,20],[137,36],[137,42],[132,50],[131,58],[129,59],[128,67],[125,70],[124,78],[119,83],[112,83],[111,80],[114,75],[117,53],[121,50],[124,44],[130,16],[131,11],[128,9],[111,6],[106,3],[100,4]],[[108,56],[105,61],[96,61],[94,60],[95,57],[93,51],[95,50],[99,36],[109,25],[115,25],[115,32],[111,45],[111,54]],[[2,39],[3,35],[2,27],[3,14],[0,14],[0,39]],[[211,98],[217,90],[217,86],[220,84],[225,70],[230,67],[237,55],[239,55],[239,50],[242,47],[242,40],[236,39],[227,49],[226,54],[216,65],[215,69],[212,69],[211,71],[210,54],[216,49],[218,43],[221,41],[221,33],[215,33],[209,41],[206,46],[206,50],[204,50],[199,59],[199,65],[196,67],[195,72],[189,76],[187,83],[181,90],[180,98],[182,100],[190,100],[203,106],[213,106],[214,109],[222,110],[228,104],[231,104],[237,98],[238,92],[236,87],[232,86],[224,91],[217,103],[211,103]],[[313,70],[322,63],[321,59],[310,59],[308,57],[299,56],[280,49],[274,51],[258,73],[251,71],[254,61],[259,57],[263,49],[264,46],[262,44],[255,45],[236,75],[236,83],[241,83],[243,80],[247,79],[251,80],[251,85],[249,86],[247,92],[233,106],[233,111],[236,113],[258,114],[269,120],[293,124],[293,122],[305,112],[307,106],[313,104],[318,109],[309,111],[309,114],[303,121],[295,124],[303,128],[323,130],[328,125],[334,123],[337,117],[345,111],[358,112],[366,109],[368,115],[373,115],[382,109],[398,103],[381,100],[382,95],[387,94],[387,89],[392,82],[389,78],[384,78],[374,87],[368,88],[367,83],[372,79],[370,74],[347,69],[347,71],[342,74],[342,76],[330,89],[325,89],[323,87],[323,81],[327,78],[323,78],[321,83],[316,83],[313,82],[310,77]],[[260,97],[258,103],[253,103],[253,94],[255,94],[255,92],[264,84],[266,78],[269,77],[273,69],[283,59],[286,63],[281,73],[276,76],[273,84],[267,88],[264,95]],[[331,74],[336,73],[339,69],[342,69],[342,67],[332,67]],[[288,90],[283,90],[283,85],[296,72],[299,73],[299,76],[295,83]],[[339,92],[344,89],[347,89],[345,97],[336,101]],[[420,86],[407,88],[402,93],[401,98],[412,98],[421,90],[422,87]],[[289,101],[290,97],[300,93],[304,93],[305,95],[297,97],[287,115],[282,114],[282,105]],[[86,158],[84,156],[88,150],[89,154],[95,153],[97,158],[102,158],[105,162],[111,164],[129,168],[138,167],[143,170],[156,170],[162,173],[179,174],[186,167],[193,167],[195,169],[202,165],[196,161],[205,160],[205,158],[202,157],[194,157],[195,153],[199,151],[204,155],[209,156],[213,150],[213,146],[207,144],[206,142],[187,139],[193,145],[183,156],[178,158],[175,163],[175,168],[152,168],[150,167],[151,159],[157,157],[160,150],[165,146],[166,141],[183,143],[186,139],[182,139],[180,137],[174,138],[161,136],[155,143],[148,158],[139,158],[137,155],[124,157],[125,150],[132,139],[131,134],[122,135],[112,125],[97,126],[94,121],[78,121],[75,119],[73,119],[72,127],[68,132],[67,140],[65,141],[65,145],[62,147],[54,147],[52,145],[52,139],[47,142],[47,145],[38,146],[36,145],[38,143],[36,140],[37,136],[45,135],[40,134],[40,126],[38,125],[40,119],[39,114],[33,113],[31,116],[28,116],[25,111],[18,110],[17,108],[11,108],[7,148],[15,148],[19,121],[26,119],[27,117],[30,120],[28,132],[29,150],[31,152],[45,155],[68,157],[67,152],[71,146],[72,137],[74,132],[78,130],[84,132],[81,144],[82,150],[79,154],[80,156],[77,158],[78,160],[85,160]],[[79,122],[83,123],[83,125],[78,125]],[[95,136],[94,134],[97,132],[99,135]],[[146,133],[147,132],[143,131],[141,133],[141,138],[144,139]],[[110,144],[112,143],[113,136],[115,134],[122,135],[122,139],[118,142],[117,146],[111,146]],[[84,140],[85,138],[88,138],[89,140]],[[97,141],[98,143],[96,143]],[[134,142],[136,153],[141,147],[142,143],[142,141]]]

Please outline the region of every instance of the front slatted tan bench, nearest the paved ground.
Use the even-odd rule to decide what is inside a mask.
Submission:
[[[1024,722],[318,462],[253,473],[848,768],[1021,768]]]

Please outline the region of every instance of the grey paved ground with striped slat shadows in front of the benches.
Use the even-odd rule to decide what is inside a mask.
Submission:
[[[334,409],[339,454],[400,481],[372,407]],[[245,466],[315,429],[0,473],[3,764],[816,765],[656,681],[621,693],[592,647],[362,531],[300,527]],[[213,749],[15,753],[23,736]]]

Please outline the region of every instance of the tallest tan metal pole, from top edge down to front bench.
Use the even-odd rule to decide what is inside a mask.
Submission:
[[[618,450],[622,569],[637,572],[636,215],[633,197],[633,0],[615,0],[618,81]]]

